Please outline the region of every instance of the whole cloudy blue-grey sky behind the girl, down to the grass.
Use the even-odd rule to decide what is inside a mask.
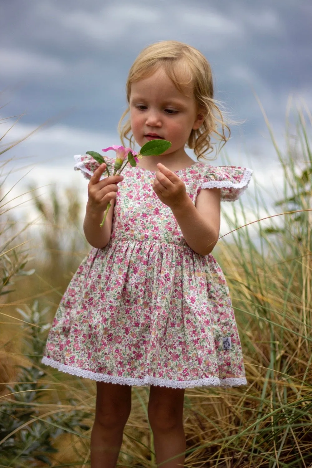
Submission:
[[[86,190],[81,174],[73,172],[73,155],[119,143],[116,127],[126,107],[131,64],[146,45],[174,39],[203,52],[216,99],[241,122],[231,128],[229,162],[218,156],[212,164],[251,167],[265,191],[282,187],[254,93],[283,145],[290,94],[312,107],[311,2],[10,0],[1,2],[0,24],[1,105],[6,104],[0,115],[25,113],[5,141],[50,121],[5,154],[16,158],[7,166],[14,170],[7,183],[29,167],[25,184],[32,178],[39,185],[58,181]],[[6,128],[4,122],[0,129]]]

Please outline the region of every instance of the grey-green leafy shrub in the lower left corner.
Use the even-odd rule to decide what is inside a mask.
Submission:
[[[54,410],[52,414],[40,418],[44,407],[42,401],[50,385],[41,383],[46,373],[39,367],[44,351],[48,308],[39,310],[38,301],[31,308],[17,309],[25,323],[24,355],[28,356],[29,366],[20,369],[17,383],[7,385],[9,394],[0,406],[0,462],[7,467],[22,468],[37,466],[38,461],[51,465],[49,454],[58,450],[53,441],[67,431],[87,430],[84,424],[86,413],[74,409],[76,402],[70,399],[73,409]]]

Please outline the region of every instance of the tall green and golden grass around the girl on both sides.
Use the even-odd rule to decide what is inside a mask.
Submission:
[[[253,195],[256,222],[248,224],[241,200],[232,204],[233,217],[222,210],[222,216],[233,231],[232,238],[229,241],[229,236],[222,237],[213,254],[225,272],[230,288],[248,385],[244,388],[186,389],[186,467],[312,466],[312,119],[309,111],[302,108],[294,111],[294,117],[295,128],[290,127],[290,119],[286,123],[285,151],[276,144],[268,124],[284,175],[284,193],[280,200],[276,200],[276,213],[272,214],[265,205],[257,184]],[[257,179],[257,174],[254,177]],[[35,190],[32,193],[35,194]],[[73,198],[70,197],[71,200]],[[75,199],[78,200],[78,196]],[[68,202],[64,203],[64,197],[61,200],[55,192],[54,198],[42,199],[41,205],[36,197],[34,204],[38,214],[42,215],[44,261],[39,256],[32,261],[31,266],[36,268],[36,272],[24,278],[18,295],[16,292],[6,295],[7,305],[1,312],[9,310],[10,320],[14,323],[20,315],[15,310],[16,306],[7,308],[8,303],[22,302],[23,298],[27,298],[25,302],[32,301],[36,297],[40,326],[47,321],[41,317],[41,311],[50,306],[47,314],[50,314],[51,321],[59,298],[88,247],[82,241],[78,217],[72,224],[69,221],[73,216]],[[64,221],[56,214],[60,210],[64,210]],[[264,218],[260,214],[263,210],[267,212],[265,218],[269,219],[270,226],[268,219],[261,220]],[[239,222],[241,216],[245,220],[244,227]],[[260,242],[257,245],[252,237],[255,230]],[[70,232],[73,243],[69,242],[64,247],[66,232]],[[25,322],[34,320],[29,312],[31,307],[18,308],[28,313],[24,317],[28,317]],[[8,331],[11,342],[16,343],[16,338],[22,336],[19,324],[5,324],[2,326],[2,341]],[[22,333],[25,334],[25,330]],[[7,357],[12,362],[31,361],[25,349],[21,352],[22,356],[17,356],[18,353],[10,349]],[[38,361],[32,362],[42,370]],[[21,407],[29,409],[28,419],[23,424],[36,416],[47,430],[53,431],[58,427],[62,431],[61,437],[49,439],[57,450],[49,454],[51,466],[88,467],[95,382],[51,368],[44,368],[44,372],[37,382],[46,386],[44,396],[37,401],[21,403]],[[2,380],[13,388],[10,368],[0,367],[0,373]],[[36,391],[42,389],[37,388]],[[12,394],[14,392],[7,387],[7,395],[2,395],[3,404],[12,404]],[[124,431],[118,460],[120,467],[155,466],[152,432],[147,418],[148,395],[148,388],[132,388],[132,409]],[[15,400],[17,398],[16,393]],[[78,418],[77,424],[75,421],[67,424],[69,419],[66,420],[65,415],[73,414],[73,409],[80,412],[77,414],[82,419],[79,421]],[[17,431],[22,430],[17,426]],[[37,437],[40,440],[40,434]],[[15,464],[2,466],[15,467],[17,462],[15,459]],[[40,465],[37,461],[35,466],[48,465]]]

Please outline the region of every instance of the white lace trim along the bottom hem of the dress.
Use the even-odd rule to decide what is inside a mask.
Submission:
[[[72,375],[78,375],[79,377],[85,377],[91,380],[97,380],[101,382],[111,382],[119,383],[121,385],[137,385],[137,386],[150,386],[150,385],[159,385],[160,387],[171,387],[171,388],[194,388],[194,387],[233,387],[236,385],[247,385],[247,380],[245,377],[237,377],[232,379],[222,379],[218,377],[208,377],[207,379],[200,380],[166,380],[166,379],[157,379],[149,375],[145,375],[144,379],[134,379],[127,377],[117,377],[114,375],[99,374],[91,371],[86,371],[84,369],[79,369],[78,367],[65,366],[61,362],[55,361],[54,359],[47,358],[44,356],[42,358],[42,363],[56,367],[59,371],[66,372]]]

